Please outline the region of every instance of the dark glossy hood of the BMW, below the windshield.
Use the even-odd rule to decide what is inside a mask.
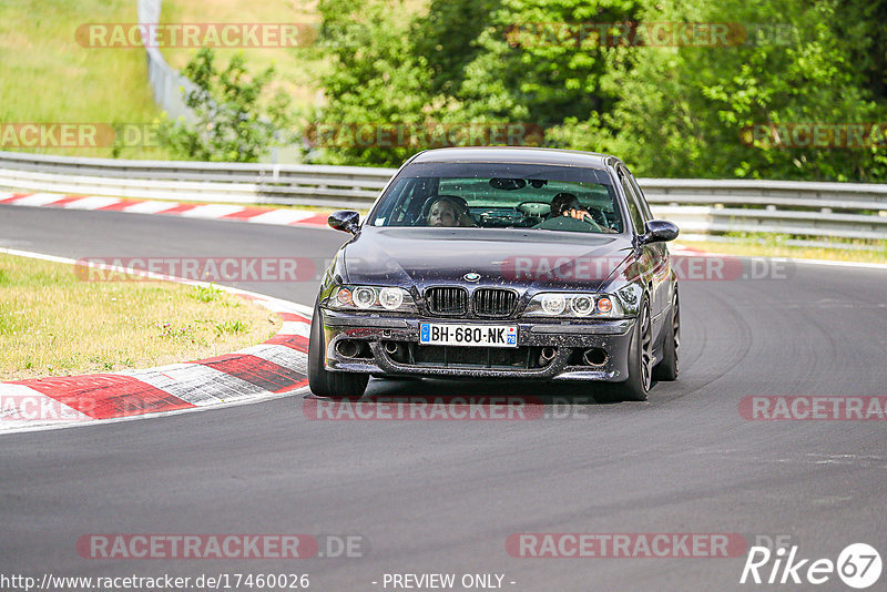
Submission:
[[[350,284],[597,290],[632,244],[615,234],[364,227],[344,248]],[[469,280],[466,274],[479,277]]]

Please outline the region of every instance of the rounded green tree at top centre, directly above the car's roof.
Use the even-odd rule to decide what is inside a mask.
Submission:
[[[611,48],[581,23],[635,19],[634,0],[502,0],[456,95],[467,116],[549,127],[608,112],[618,89],[605,81]]]

